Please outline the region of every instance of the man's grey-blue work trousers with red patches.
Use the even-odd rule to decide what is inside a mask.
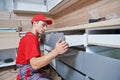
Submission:
[[[17,66],[19,69],[17,80],[52,80],[46,73],[40,73],[40,71],[33,70],[30,64]]]

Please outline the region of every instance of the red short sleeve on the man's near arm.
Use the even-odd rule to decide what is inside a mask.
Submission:
[[[28,36],[25,42],[25,57],[30,60],[33,57],[40,56],[38,39],[33,36]]]

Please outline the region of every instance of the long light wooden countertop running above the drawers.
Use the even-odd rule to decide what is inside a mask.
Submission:
[[[110,26],[118,26],[118,25],[120,25],[120,18],[95,22],[95,23],[81,24],[71,27],[57,28],[57,29],[48,30],[46,32],[82,30],[82,29],[95,28],[95,27],[107,27],[107,26],[110,27]]]

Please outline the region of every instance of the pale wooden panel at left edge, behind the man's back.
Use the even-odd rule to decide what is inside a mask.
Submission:
[[[17,48],[19,34],[17,32],[0,32],[0,50]]]

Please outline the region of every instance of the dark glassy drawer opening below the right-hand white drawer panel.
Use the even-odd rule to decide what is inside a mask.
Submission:
[[[87,47],[86,51],[89,53],[98,54],[98,55],[120,60],[120,49],[119,48],[90,45]]]

